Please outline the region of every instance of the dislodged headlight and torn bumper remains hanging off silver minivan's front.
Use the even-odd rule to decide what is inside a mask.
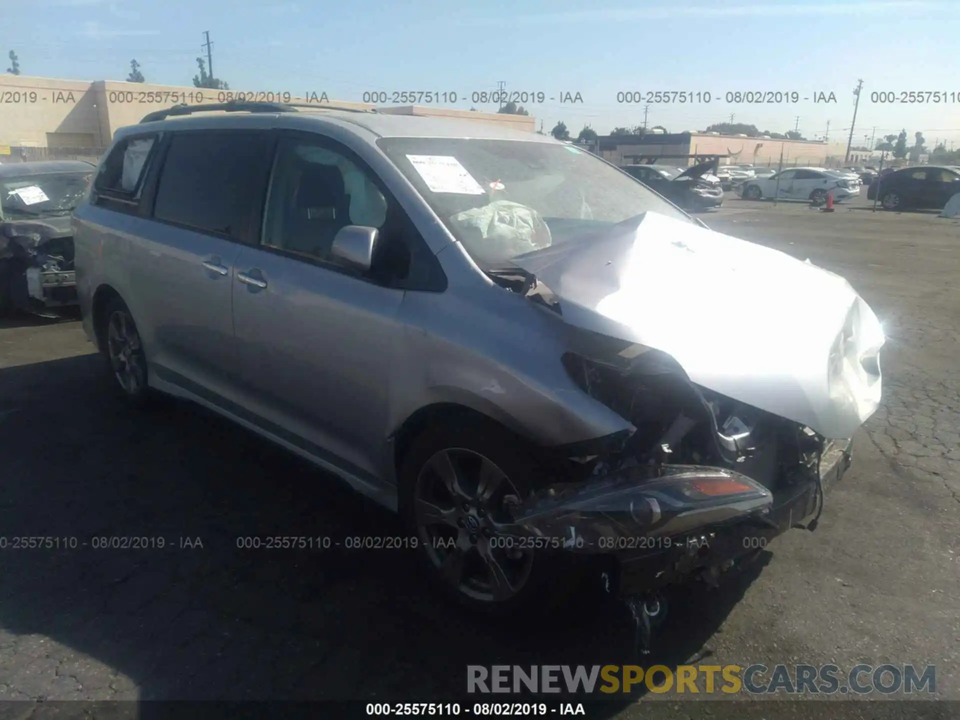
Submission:
[[[517,508],[511,536],[603,558],[618,594],[712,577],[791,528],[814,529],[826,492],[851,464],[850,440],[824,444],[817,472],[798,468],[770,490],[725,468],[666,466],[660,477],[631,471],[538,492]]]

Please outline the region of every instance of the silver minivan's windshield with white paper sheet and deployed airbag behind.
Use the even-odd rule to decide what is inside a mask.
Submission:
[[[640,182],[567,145],[444,137],[387,137],[377,144],[481,265],[648,210],[693,222]]]

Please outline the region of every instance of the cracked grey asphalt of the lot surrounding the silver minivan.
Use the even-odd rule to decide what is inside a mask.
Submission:
[[[816,532],[775,540],[722,588],[678,596],[644,664],[933,664],[940,704],[844,702],[829,716],[957,716],[943,701],[960,700],[960,223],[737,199],[702,217],[851,281],[888,336],[884,402]],[[718,287],[703,322],[762,333],[751,320],[762,301]],[[78,322],[0,324],[0,536],[60,543],[0,549],[0,700],[427,702],[461,696],[468,664],[633,657],[614,606],[516,626],[444,604],[403,550],[238,547],[402,533],[228,421],[176,401],[134,412],[107,381]],[[146,546],[96,546],[117,537]],[[646,693],[601,714],[699,712],[677,700]],[[765,716],[801,717],[810,703]],[[26,702],[5,710],[40,716]]]

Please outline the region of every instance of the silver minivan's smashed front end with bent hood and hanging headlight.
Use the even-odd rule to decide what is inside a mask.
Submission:
[[[881,393],[883,332],[846,280],[655,213],[515,263],[571,326],[568,374],[630,429],[562,448],[579,477],[498,534],[609,561],[648,638],[663,588],[816,527]]]

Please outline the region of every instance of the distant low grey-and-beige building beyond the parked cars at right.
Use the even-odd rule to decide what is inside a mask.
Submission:
[[[784,165],[834,167],[844,164],[845,143],[811,140],[774,140],[708,132],[607,135],[599,138],[599,154],[615,165],[629,165],[662,157],[661,164],[694,164],[696,156],[719,156],[721,165],[750,163],[777,166],[782,153]]]

